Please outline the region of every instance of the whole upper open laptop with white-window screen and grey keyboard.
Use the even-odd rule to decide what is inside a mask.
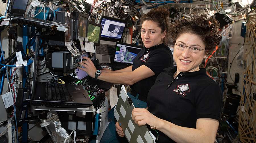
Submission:
[[[102,16],[100,24],[102,25],[101,40],[100,45],[95,46],[95,57],[100,63],[111,63],[115,55],[115,44],[121,41],[126,21]]]

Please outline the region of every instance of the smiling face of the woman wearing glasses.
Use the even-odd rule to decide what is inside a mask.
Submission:
[[[198,47],[200,49],[205,49],[205,44],[202,42],[195,34],[184,33],[181,34],[177,40],[176,44],[183,44],[189,47]],[[191,53],[189,47],[184,51],[178,50],[177,45],[174,45],[173,57],[177,64],[177,74],[180,72],[193,72],[199,71],[199,65],[201,64],[203,58],[206,57],[205,50],[200,51],[198,54]]]

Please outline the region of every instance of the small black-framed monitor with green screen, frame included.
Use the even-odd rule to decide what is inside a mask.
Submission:
[[[101,35],[102,25],[88,21],[87,26],[87,39],[89,42],[94,42],[94,45],[100,45],[100,35]]]

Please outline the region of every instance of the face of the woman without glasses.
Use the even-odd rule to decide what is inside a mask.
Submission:
[[[161,28],[155,22],[144,21],[141,26],[141,39],[146,48],[163,43],[166,31],[161,33]]]

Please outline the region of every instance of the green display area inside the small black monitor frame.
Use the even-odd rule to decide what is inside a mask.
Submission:
[[[87,38],[89,42],[99,43],[100,39],[100,27],[88,23],[88,33]]]

